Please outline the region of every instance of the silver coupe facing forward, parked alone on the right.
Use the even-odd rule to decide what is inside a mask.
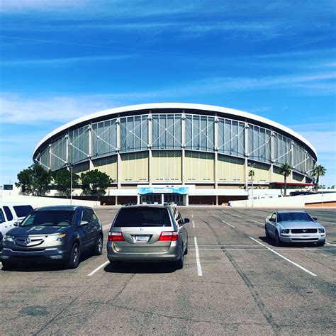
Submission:
[[[265,220],[267,240],[273,238],[276,246],[283,243],[315,242],[325,245],[325,228],[306,211],[275,211]]]

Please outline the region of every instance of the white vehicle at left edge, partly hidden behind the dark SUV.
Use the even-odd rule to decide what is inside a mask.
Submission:
[[[33,206],[21,203],[0,203],[0,240],[7,231],[14,228],[23,220]]]

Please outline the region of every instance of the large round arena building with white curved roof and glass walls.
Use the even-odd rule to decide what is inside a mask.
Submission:
[[[251,113],[194,103],[112,108],[62,125],[33,160],[55,171],[99,169],[113,179],[108,203],[218,204],[254,187],[310,184],[317,153],[284,125]]]

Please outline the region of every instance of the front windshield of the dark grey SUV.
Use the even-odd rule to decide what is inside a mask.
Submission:
[[[74,211],[33,211],[21,226],[70,226]]]

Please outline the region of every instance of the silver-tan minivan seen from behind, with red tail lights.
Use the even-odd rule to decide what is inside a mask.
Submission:
[[[170,261],[177,269],[188,252],[188,231],[181,213],[172,206],[124,206],[108,233],[110,262]]]

